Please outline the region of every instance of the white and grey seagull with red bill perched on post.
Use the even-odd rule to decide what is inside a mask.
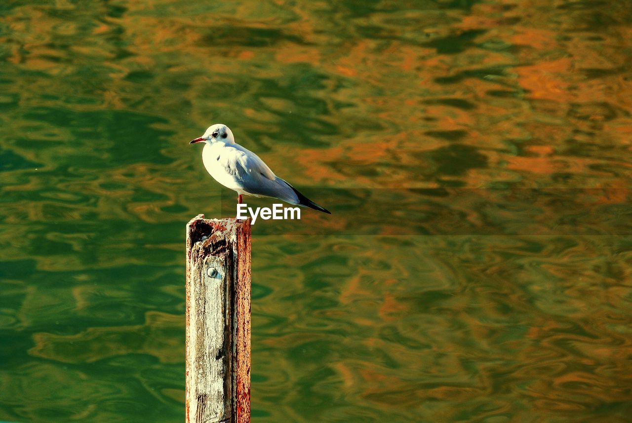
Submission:
[[[272,197],[331,215],[329,210],[276,176],[258,155],[235,143],[233,132],[228,126],[221,123],[209,126],[204,135],[191,140],[189,144],[195,143],[205,143],[202,163],[206,171],[226,188],[237,191],[238,204],[241,204],[242,195]]]

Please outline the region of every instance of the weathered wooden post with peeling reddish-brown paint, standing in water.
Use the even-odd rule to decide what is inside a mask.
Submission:
[[[186,225],[186,423],[250,422],[250,219]]]

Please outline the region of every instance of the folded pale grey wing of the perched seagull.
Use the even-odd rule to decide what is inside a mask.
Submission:
[[[235,147],[241,147],[235,145]],[[225,155],[222,165],[226,167],[244,193],[254,196],[278,198],[289,204],[298,204],[294,189],[272,170],[255,153],[245,148],[234,148],[234,152]]]

